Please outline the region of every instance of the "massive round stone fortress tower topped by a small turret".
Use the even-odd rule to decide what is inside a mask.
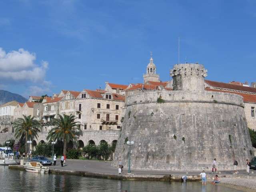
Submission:
[[[142,170],[244,169],[252,144],[242,96],[204,90],[207,70],[201,64],[176,64],[170,70],[173,90],[137,90],[127,94],[126,112],[113,166],[121,156]]]

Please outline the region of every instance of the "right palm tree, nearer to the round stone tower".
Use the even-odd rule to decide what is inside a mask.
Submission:
[[[66,155],[67,152],[67,143],[73,141],[75,145],[78,145],[77,138],[82,136],[82,130],[78,127],[77,122],[75,122],[74,115],[66,115],[63,116],[58,115],[59,118],[53,119],[52,124],[54,128],[52,128],[48,132],[47,140],[63,140],[63,154]]]

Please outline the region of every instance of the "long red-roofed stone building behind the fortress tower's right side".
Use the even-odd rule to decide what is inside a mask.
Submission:
[[[256,88],[244,86],[239,82],[223,83],[205,80],[205,89],[217,92],[230,92],[238,94],[244,99],[244,112],[249,128],[256,130]]]

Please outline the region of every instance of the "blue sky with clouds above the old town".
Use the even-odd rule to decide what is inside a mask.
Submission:
[[[256,82],[255,0],[0,1],[0,90],[52,95],[143,82],[152,51],[170,80],[198,62],[206,79]]]

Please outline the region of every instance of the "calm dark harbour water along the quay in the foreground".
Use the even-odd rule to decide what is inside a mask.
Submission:
[[[6,182],[5,182],[6,181]],[[82,176],[36,174],[0,166],[0,191],[60,192],[241,192],[201,182],[122,181]]]

